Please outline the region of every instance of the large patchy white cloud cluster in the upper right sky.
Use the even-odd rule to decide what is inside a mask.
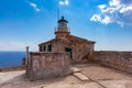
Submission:
[[[96,19],[96,14],[91,16],[90,21],[102,24],[117,23],[121,26],[132,25],[132,1],[110,0],[108,4],[99,4],[98,9],[100,12],[96,14],[100,14],[98,19],[101,19],[101,21]]]

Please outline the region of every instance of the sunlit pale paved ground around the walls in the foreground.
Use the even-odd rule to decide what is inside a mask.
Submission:
[[[30,81],[25,70],[0,73],[0,88],[132,88],[132,75],[99,65],[80,64],[79,68],[89,78],[81,81],[70,75],[52,79]],[[81,77],[81,75],[80,75]]]

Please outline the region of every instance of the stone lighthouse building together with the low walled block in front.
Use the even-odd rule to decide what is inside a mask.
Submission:
[[[62,16],[55,38],[38,44],[38,52],[28,52],[26,76],[31,80],[66,76],[73,73],[72,63],[94,61],[95,42],[70,35],[67,23]]]

